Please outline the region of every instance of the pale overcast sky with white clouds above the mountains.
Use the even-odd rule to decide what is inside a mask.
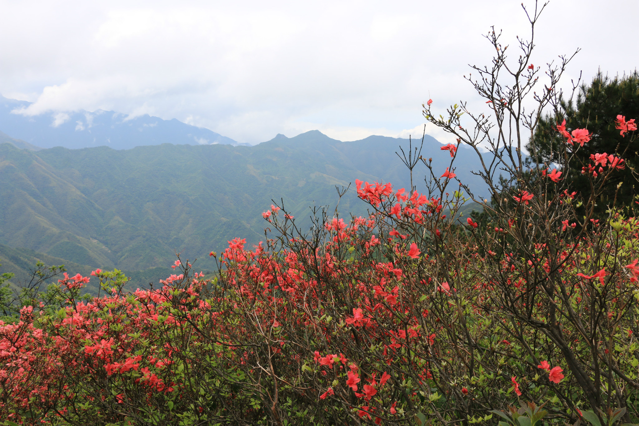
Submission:
[[[482,107],[463,79],[492,57],[482,34],[530,38],[519,0],[0,0],[0,11],[0,94],[34,102],[22,114],[150,114],[250,144],[308,130],[420,136],[429,98],[435,111]],[[598,68],[631,72],[638,12],[636,0],[552,0],[532,63],[581,48],[566,87],[580,72],[587,82]]]

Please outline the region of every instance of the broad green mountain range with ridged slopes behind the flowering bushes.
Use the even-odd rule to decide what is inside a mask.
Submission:
[[[283,199],[304,229],[309,206],[329,205],[333,211],[335,185],[352,183],[339,204],[341,215],[366,214],[368,205],[355,193],[356,178],[408,189],[408,171],[396,155],[400,144],[408,148],[406,139],[341,142],[316,130],[236,147],[29,151],[0,144],[0,244],[128,271],[166,268],[175,252],[182,252],[200,259],[198,268],[212,269],[207,254],[223,250],[226,241],[246,238],[250,247],[265,240],[268,222],[261,213],[272,199]],[[425,138],[422,156],[433,158],[436,176],[450,163],[441,147]],[[470,172],[478,167],[470,149],[459,149],[456,167],[458,176],[484,195]],[[426,172],[418,165],[413,174],[420,192]]]

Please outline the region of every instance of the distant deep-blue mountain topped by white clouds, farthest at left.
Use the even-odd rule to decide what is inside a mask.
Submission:
[[[0,96],[0,130],[42,148],[90,148],[170,144],[240,144],[206,128],[187,125],[177,119],[164,120],[148,115],[131,118],[114,111],[80,111],[39,116],[23,116],[12,111],[30,103]]]

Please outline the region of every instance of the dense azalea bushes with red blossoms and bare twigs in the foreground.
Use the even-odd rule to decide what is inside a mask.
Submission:
[[[538,16],[530,17],[533,27]],[[211,253],[219,261],[215,280],[203,280],[179,256],[162,287],[134,293],[122,291],[127,278],[117,271],[65,273],[45,293],[56,297],[22,307],[19,321],[0,327],[0,418],[64,425],[636,421],[639,220],[632,206],[614,201],[606,217],[593,216],[624,160],[594,154],[583,169],[591,188],[585,199],[564,177],[591,135],[557,123],[557,162],[527,162],[522,146],[533,140],[542,111],[560,109],[555,88],[568,59],[548,70],[535,94],[532,42],[520,42],[520,59],[506,67],[499,34],[488,40],[497,56],[492,68],[474,68],[481,79],[473,85],[495,121],[465,104],[434,118],[429,100],[426,119],[458,144],[443,146],[435,160],[409,148],[411,174],[418,164],[430,170],[433,161],[450,160],[443,176],[430,172],[426,190],[357,181],[370,215],[318,209],[306,233],[273,204],[263,213],[265,243],[247,248],[236,238]],[[504,75],[514,83],[502,83]],[[527,112],[531,93],[537,107]],[[617,128],[635,140],[634,121],[619,119]],[[477,173],[490,201],[456,181],[461,143],[481,157]],[[482,202],[480,222],[459,216],[468,199]],[[89,279],[107,294],[79,300]]]

